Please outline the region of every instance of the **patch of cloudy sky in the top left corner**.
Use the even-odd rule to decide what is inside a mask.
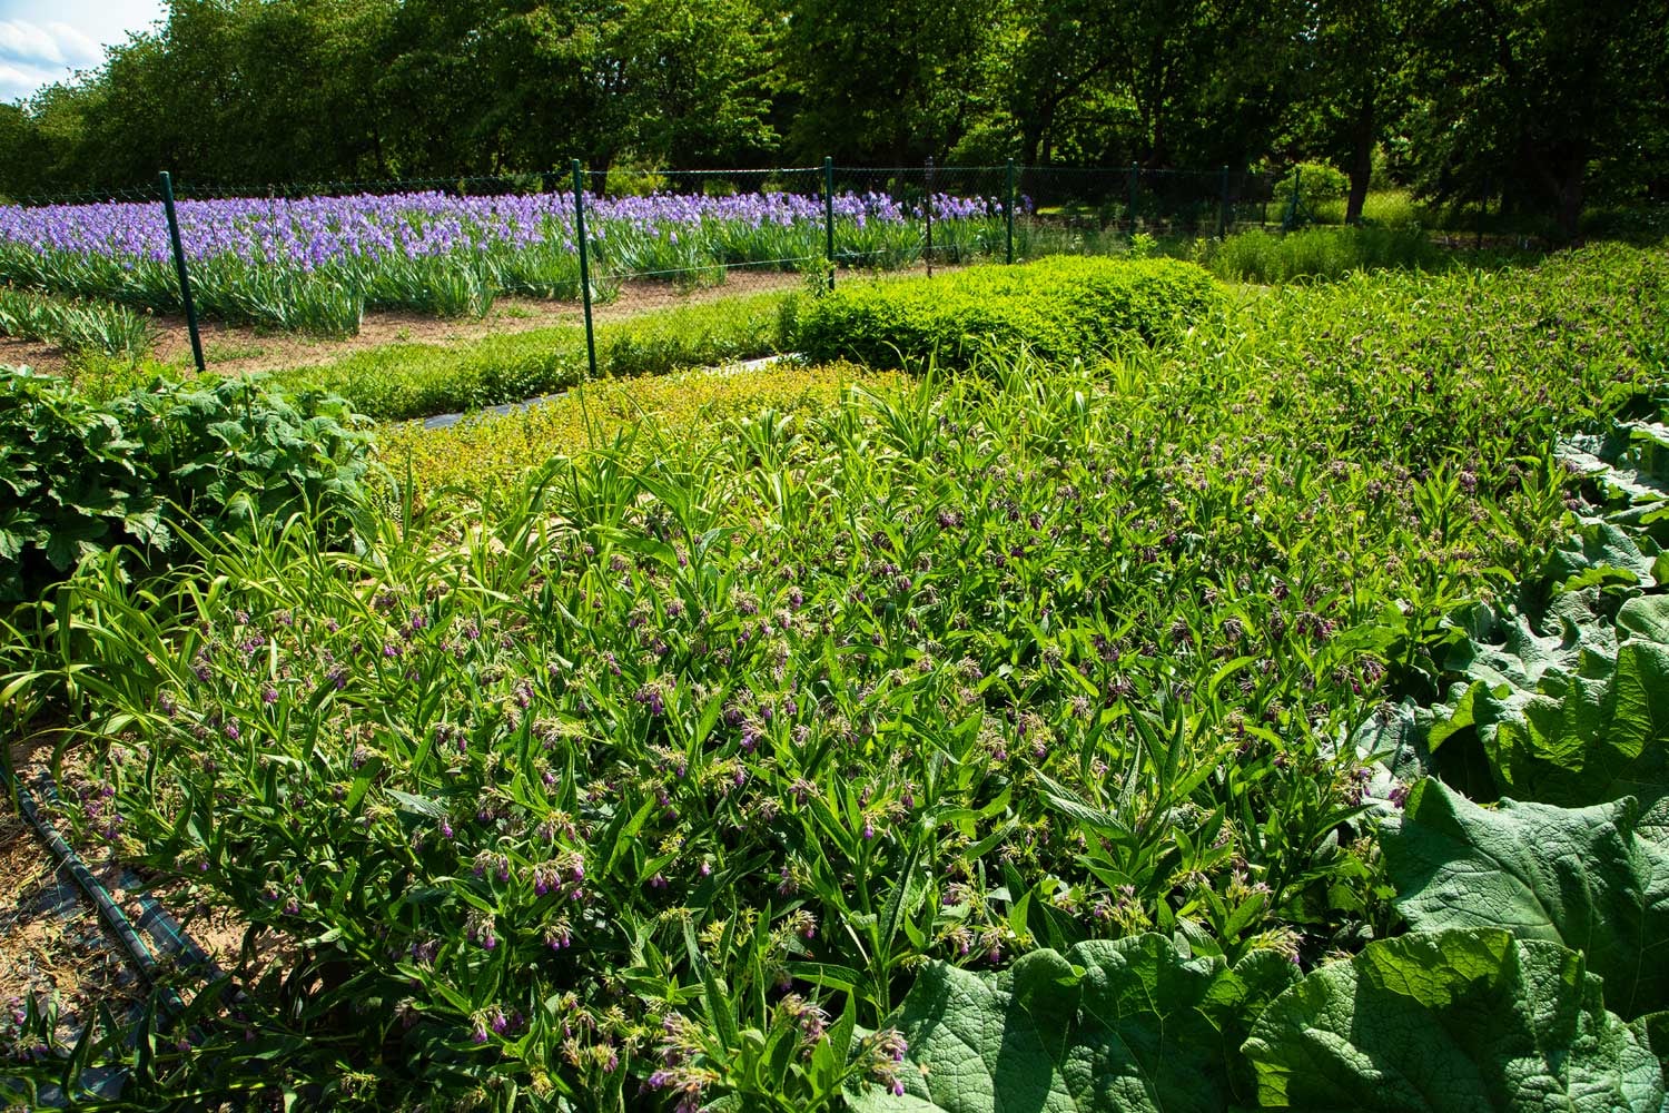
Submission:
[[[0,0],[0,102],[97,67],[159,18],[162,0]]]

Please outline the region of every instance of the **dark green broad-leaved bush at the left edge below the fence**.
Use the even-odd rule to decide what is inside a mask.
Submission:
[[[165,562],[182,529],[239,532],[309,511],[342,542],[371,441],[340,399],[285,399],[259,380],[159,379],[110,402],[0,367],[0,601],[30,599],[117,546]]]

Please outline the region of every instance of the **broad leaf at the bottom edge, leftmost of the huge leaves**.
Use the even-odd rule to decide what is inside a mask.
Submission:
[[[1297,981],[1258,951],[1235,966],[1187,958],[1158,934],[1033,951],[1011,969],[923,968],[895,1023],[910,1041],[905,1093],[860,1110],[1223,1110],[1250,1096],[1237,1048],[1263,1005]]]

